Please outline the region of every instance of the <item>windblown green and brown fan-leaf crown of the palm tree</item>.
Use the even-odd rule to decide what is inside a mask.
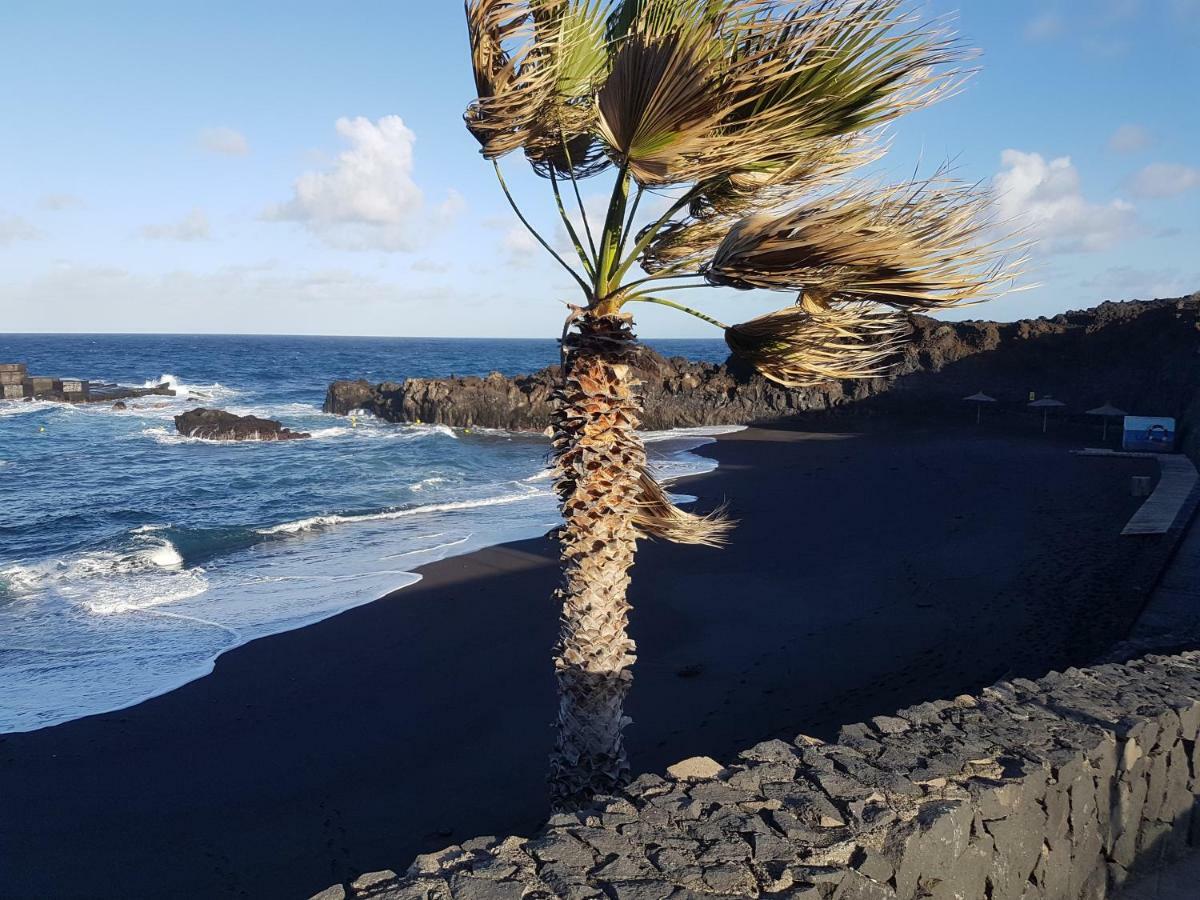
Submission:
[[[880,374],[906,332],[896,311],[976,302],[1016,274],[970,186],[853,179],[882,155],[880,126],[962,80],[965,52],[901,0],[468,0],[467,16],[467,125],[486,158],[522,150],[550,180],[576,263],[535,236],[588,308],[700,284],[802,295],[722,326],[802,386]],[[605,221],[582,203],[572,221],[564,187],[578,202],[608,170]],[[648,191],[670,205],[634,232]]]

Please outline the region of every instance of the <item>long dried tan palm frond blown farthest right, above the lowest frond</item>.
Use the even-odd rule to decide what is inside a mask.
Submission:
[[[805,292],[900,308],[944,308],[1002,294],[1025,263],[996,227],[990,197],[938,173],[859,184],[781,216],[740,221],[706,271],[712,284]]]

